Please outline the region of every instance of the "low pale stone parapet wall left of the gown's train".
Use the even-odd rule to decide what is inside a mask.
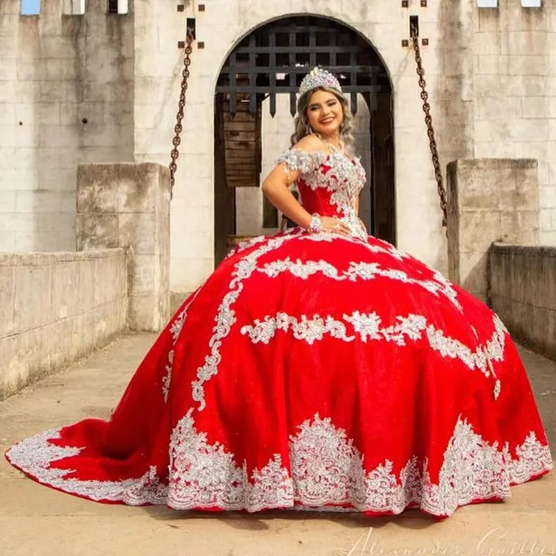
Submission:
[[[0,400],[126,327],[126,254],[0,254]]]

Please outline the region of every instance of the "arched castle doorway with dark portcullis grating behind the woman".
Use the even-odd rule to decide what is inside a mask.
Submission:
[[[395,243],[392,86],[373,45],[324,17],[291,16],[254,29],[225,61],[215,90],[215,262],[230,238],[273,233],[261,173],[293,131],[297,88],[312,67],[333,72],[356,117],[355,148],[368,170],[361,217]],[[284,118],[286,115],[286,118]]]

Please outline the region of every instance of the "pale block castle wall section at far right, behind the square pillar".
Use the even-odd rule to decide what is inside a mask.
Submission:
[[[473,156],[538,161],[540,240],[556,245],[556,4],[473,3]]]

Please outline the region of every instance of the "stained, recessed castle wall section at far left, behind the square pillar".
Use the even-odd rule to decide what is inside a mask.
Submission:
[[[133,9],[0,1],[0,251],[75,250],[79,163],[133,160]],[[131,6],[133,3],[130,4]]]

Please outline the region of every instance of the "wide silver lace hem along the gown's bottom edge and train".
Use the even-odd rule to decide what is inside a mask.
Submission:
[[[398,477],[388,459],[366,471],[363,455],[345,430],[316,414],[290,436],[291,474],[275,454],[248,480],[245,464],[237,466],[223,445],[208,443],[206,433],[195,430],[192,411],[172,431],[169,485],[154,466],[138,479],[66,478],[73,470],[52,468],[51,464],[78,455],[81,448],[51,444],[51,440],[60,439],[58,430],[26,439],[6,455],[39,482],[91,500],[250,512],[350,505],[359,511],[399,514],[416,503],[430,514],[449,516],[458,506],[473,501],[507,498],[510,485],[553,468],[548,445],[541,444],[534,432],[516,446],[512,457],[507,443],[502,450],[496,442],[489,444],[460,416],[444,452],[437,483],[431,480],[427,461],[420,464],[415,456]]]

